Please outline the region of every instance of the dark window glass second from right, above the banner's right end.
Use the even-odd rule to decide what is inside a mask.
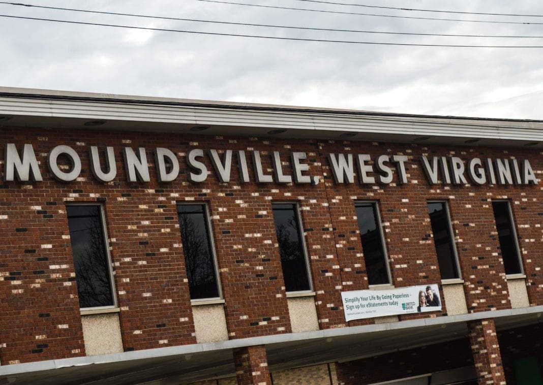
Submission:
[[[446,203],[428,202],[428,214],[432,224],[435,254],[438,257],[441,279],[460,278]]]

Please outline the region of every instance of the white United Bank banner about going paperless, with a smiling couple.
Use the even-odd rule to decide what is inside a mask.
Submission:
[[[341,297],[346,321],[441,310],[438,285],[346,291]]]

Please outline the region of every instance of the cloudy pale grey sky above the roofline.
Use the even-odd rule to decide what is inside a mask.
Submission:
[[[543,47],[539,0],[330,0],[498,14],[388,10],[302,0],[271,7],[532,24],[420,20],[199,0],[21,0],[25,4],[293,27],[529,38],[411,36],[249,27],[0,3],[0,15],[223,34],[382,43]],[[541,24],[535,24],[541,23]],[[0,17],[0,85],[154,97],[543,119],[543,48],[452,48],[255,39]]]

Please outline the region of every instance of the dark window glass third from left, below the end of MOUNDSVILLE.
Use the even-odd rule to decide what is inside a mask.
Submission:
[[[286,290],[310,290],[311,285],[307,274],[307,262],[296,204],[274,203],[271,207]]]

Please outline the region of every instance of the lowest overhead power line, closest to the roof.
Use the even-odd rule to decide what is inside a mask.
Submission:
[[[191,30],[169,29],[169,28],[135,27],[133,25],[90,23],[90,22],[81,22],[81,21],[49,19],[49,18],[41,18],[41,17],[26,17],[26,16],[13,16],[13,15],[0,15],[0,17],[9,17],[9,18],[22,19],[22,20],[49,21],[49,22],[68,23],[68,24],[97,25],[100,27],[116,27],[116,28],[140,29],[140,30],[162,31],[162,32],[177,32],[177,33],[213,35],[213,36],[253,37],[256,39],[273,39],[273,40],[312,41],[312,42],[349,43],[349,44],[372,44],[372,45],[379,45],[379,46],[409,46],[409,47],[543,48],[543,46],[483,46],[483,45],[468,45],[468,44],[415,44],[415,43],[384,43],[384,42],[350,41],[350,40],[302,39],[299,37],[225,34],[225,33],[217,33],[217,32],[202,32],[202,31],[191,31]]]

